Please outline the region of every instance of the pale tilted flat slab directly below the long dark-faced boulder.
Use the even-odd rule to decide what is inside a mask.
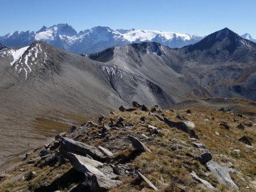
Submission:
[[[68,153],[69,160],[76,170],[82,173],[92,173],[97,176],[106,177],[104,173],[97,169],[99,166],[103,166],[101,162],[92,160],[90,158],[76,155],[74,153]]]

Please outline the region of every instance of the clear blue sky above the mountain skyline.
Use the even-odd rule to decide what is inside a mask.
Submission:
[[[75,30],[94,26],[208,35],[228,27],[256,39],[256,1],[238,0],[13,0],[0,3],[0,35],[68,23]]]

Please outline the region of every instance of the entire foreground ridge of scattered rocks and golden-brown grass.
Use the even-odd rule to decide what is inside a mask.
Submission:
[[[27,153],[0,175],[0,190],[256,190],[253,117],[224,107],[131,105]]]

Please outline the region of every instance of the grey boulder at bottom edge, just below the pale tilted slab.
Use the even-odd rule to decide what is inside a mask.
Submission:
[[[95,192],[105,192],[108,191],[110,187],[117,187],[121,183],[122,182],[118,180],[111,180],[110,178],[94,175],[92,176],[92,184],[90,185],[90,190]]]

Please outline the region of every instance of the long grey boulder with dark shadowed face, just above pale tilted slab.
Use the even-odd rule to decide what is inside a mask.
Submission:
[[[97,147],[86,145],[84,143],[69,139],[67,137],[63,137],[61,140],[60,153],[61,152],[77,153],[83,156],[89,155],[96,160],[101,160],[102,158],[105,158],[104,154]]]

